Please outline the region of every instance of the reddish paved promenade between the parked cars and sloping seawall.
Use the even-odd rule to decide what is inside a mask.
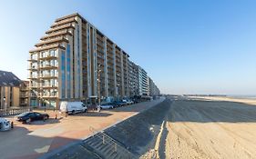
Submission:
[[[49,120],[34,122],[33,124],[20,124],[14,121],[14,130],[0,133],[1,159],[38,158],[64,145],[87,138],[92,134],[89,131],[90,126],[97,130],[106,129],[132,115],[147,110],[153,105],[159,104],[163,100],[164,98],[161,98],[100,113],[90,112],[67,117],[61,117],[57,112],[50,111],[47,112],[51,117]],[[56,114],[58,114],[57,119],[55,119]]]

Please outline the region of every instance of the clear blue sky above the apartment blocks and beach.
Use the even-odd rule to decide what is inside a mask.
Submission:
[[[256,94],[256,1],[8,0],[0,70],[27,77],[28,51],[79,13],[142,66],[163,94]]]

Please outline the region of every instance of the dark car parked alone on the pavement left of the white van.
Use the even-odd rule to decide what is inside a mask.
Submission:
[[[16,115],[16,120],[23,123],[30,123],[36,120],[46,120],[49,118],[48,114],[40,114],[37,112],[26,112],[23,114]]]

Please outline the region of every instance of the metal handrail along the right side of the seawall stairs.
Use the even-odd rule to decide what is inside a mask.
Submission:
[[[116,153],[119,152],[120,154],[123,154],[123,155],[127,156],[127,157],[124,157],[124,158],[128,158],[128,159],[138,158],[138,157],[136,157],[135,154],[130,153],[127,148],[118,144],[118,141],[116,141],[115,139],[110,137],[108,134],[105,134],[102,131],[97,131],[92,126],[89,127],[89,131],[92,132],[94,136],[100,138],[101,141],[102,141],[102,144],[112,145],[112,148],[113,148],[114,152],[116,152]]]

